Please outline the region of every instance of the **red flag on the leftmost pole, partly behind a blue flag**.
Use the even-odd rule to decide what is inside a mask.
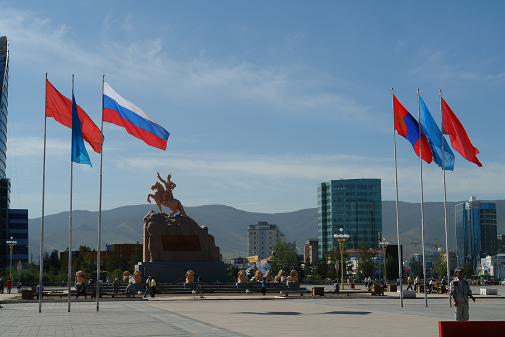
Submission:
[[[77,106],[77,113],[82,124],[84,140],[95,152],[102,152],[103,135],[100,129],[80,106]],[[72,101],[56,90],[49,81],[46,81],[46,116],[53,117],[67,128],[72,127]]]

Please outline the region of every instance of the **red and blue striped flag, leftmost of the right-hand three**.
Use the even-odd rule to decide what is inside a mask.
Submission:
[[[395,130],[398,134],[407,139],[420,157],[420,144],[422,142],[423,160],[428,164],[433,161],[433,153],[430,144],[425,135],[419,136],[419,123],[408,112],[407,109],[400,103],[400,101],[393,95],[393,108],[395,113]]]

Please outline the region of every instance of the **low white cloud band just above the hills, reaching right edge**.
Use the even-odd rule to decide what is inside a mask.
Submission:
[[[196,179],[212,178],[217,184],[228,181],[264,181],[282,190],[296,190],[298,186],[315,186],[331,179],[380,178],[383,198],[394,198],[394,166],[392,160],[378,157],[351,155],[174,155],[171,159],[136,157],[120,161],[132,170],[152,173],[154,169],[178,172]],[[505,165],[488,163],[483,169],[460,167],[447,173],[448,192],[452,200],[466,199],[469,194],[486,198],[504,195]],[[402,200],[417,201],[419,192],[419,168],[416,161],[399,167],[399,185]],[[294,185],[293,185],[294,184]],[[424,189],[426,200],[442,199],[442,175],[438,167],[425,165]]]

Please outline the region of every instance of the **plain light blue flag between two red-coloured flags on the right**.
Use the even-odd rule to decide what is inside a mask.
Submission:
[[[428,141],[430,142],[431,150],[433,151],[433,160],[441,168],[453,171],[454,153],[445,140],[445,137],[442,135],[437,123],[435,123],[430,110],[428,110],[428,107],[421,96],[419,96],[419,102],[421,109],[421,120],[419,122],[421,123],[424,135],[428,137]]]

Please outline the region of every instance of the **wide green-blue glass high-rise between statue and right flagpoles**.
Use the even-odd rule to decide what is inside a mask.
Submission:
[[[341,179],[318,187],[319,258],[338,243],[340,228],[350,235],[346,248],[377,248],[382,232],[380,179]]]

